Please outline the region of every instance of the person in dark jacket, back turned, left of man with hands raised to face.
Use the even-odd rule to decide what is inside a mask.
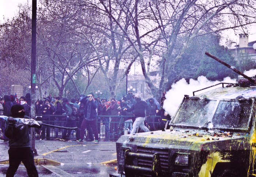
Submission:
[[[62,98],[62,104],[66,111],[66,124],[64,127],[76,127],[76,115],[72,112],[72,106],[74,106],[74,104],[69,102],[67,97]],[[60,141],[66,141],[66,138],[69,137],[70,134],[71,130],[64,129],[62,139],[60,138]]]

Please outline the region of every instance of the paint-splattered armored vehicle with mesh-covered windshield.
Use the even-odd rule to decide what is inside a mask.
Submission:
[[[121,136],[119,175],[256,176],[256,87],[242,82],[185,95],[170,130]]]

